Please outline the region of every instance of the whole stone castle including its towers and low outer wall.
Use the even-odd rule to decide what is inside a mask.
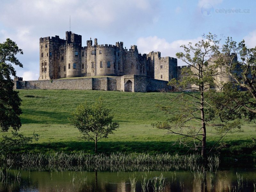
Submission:
[[[116,45],[98,45],[97,39],[86,41],[82,36],[66,32],[66,40],[40,38],[40,75],[38,81],[16,79],[16,89],[84,89],[125,92],[168,90],[168,81],[181,77],[177,59],[161,57],[160,52],[140,54],[137,46],[131,49]],[[100,77],[104,76],[104,77]],[[86,77],[67,79],[66,77]],[[229,81],[229,76],[216,81]]]

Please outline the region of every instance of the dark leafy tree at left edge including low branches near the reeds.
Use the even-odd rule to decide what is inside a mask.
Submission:
[[[34,133],[32,137],[25,137],[17,132],[21,126],[19,117],[21,99],[18,92],[13,90],[12,76],[16,76],[16,71],[12,65],[23,67],[16,58],[18,53],[23,54],[11,39],[8,38],[4,43],[0,43],[0,130],[7,132],[10,127],[14,130],[11,137],[3,136],[0,142],[1,155],[7,155],[14,149],[31,143],[33,138],[38,140],[38,134]]]

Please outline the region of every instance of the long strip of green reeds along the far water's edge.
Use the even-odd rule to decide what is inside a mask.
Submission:
[[[219,166],[218,156],[208,158],[210,170]],[[169,171],[192,170],[200,173],[203,160],[200,155],[171,155],[166,154],[87,154],[79,153],[51,153],[51,154],[11,154],[2,159],[7,166],[23,169],[55,169],[55,170],[86,170],[86,171]]]

